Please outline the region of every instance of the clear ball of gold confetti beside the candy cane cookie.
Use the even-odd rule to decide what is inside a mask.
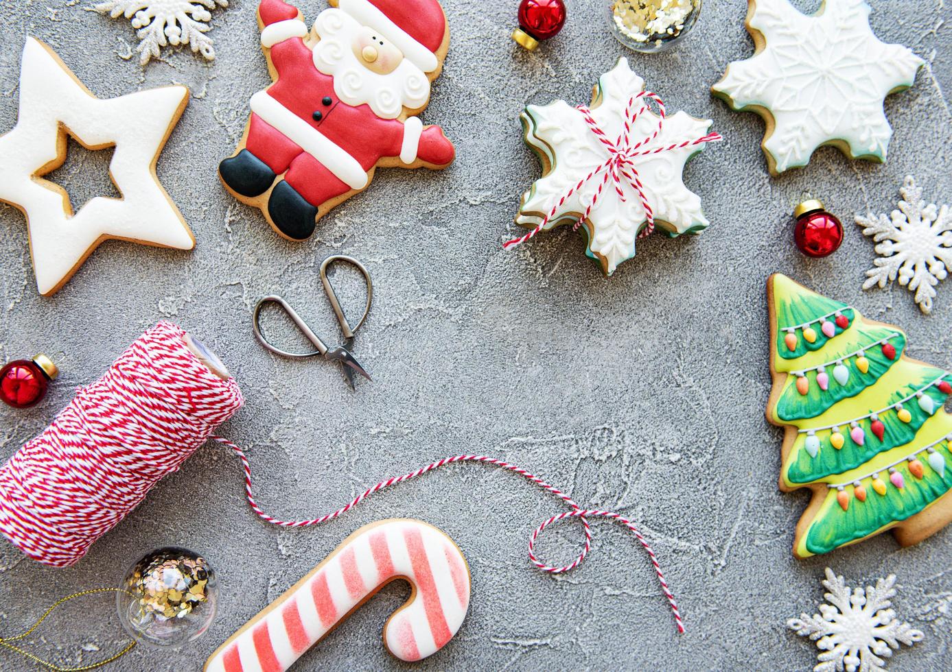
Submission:
[[[208,561],[187,548],[153,550],[129,567],[116,607],[139,643],[178,648],[202,636],[215,618],[218,586]]]

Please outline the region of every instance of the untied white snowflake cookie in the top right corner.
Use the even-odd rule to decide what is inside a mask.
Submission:
[[[883,99],[912,86],[924,61],[877,39],[864,0],[827,0],[813,16],[788,0],[748,2],[756,53],[731,63],[712,90],[764,117],[770,173],[806,165],[823,144],[884,162],[892,128]]]

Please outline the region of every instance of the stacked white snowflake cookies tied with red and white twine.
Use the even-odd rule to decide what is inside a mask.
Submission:
[[[721,136],[707,133],[709,119],[654,114],[648,100],[660,101],[644,89],[645,80],[621,58],[599,78],[590,107],[526,107],[526,144],[539,156],[543,177],[523,194],[515,220],[533,230],[506,248],[573,223],[585,230],[585,254],[610,276],[635,256],[635,241],[654,223],[670,238],[707,227],[701,198],[684,186],[682,171]]]

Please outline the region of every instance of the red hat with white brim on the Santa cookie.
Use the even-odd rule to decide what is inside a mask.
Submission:
[[[438,0],[338,0],[338,7],[379,31],[424,72],[439,67],[446,16]]]

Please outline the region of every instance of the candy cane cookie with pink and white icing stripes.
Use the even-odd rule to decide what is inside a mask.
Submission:
[[[402,661],[431,656],[466,617],[469,567],[443,531],[418,520],[391,519],[347,537],[219,646],[205,672],[283,672],[395,579],[406,579],[412,593],[384,625],[384,645]]]

